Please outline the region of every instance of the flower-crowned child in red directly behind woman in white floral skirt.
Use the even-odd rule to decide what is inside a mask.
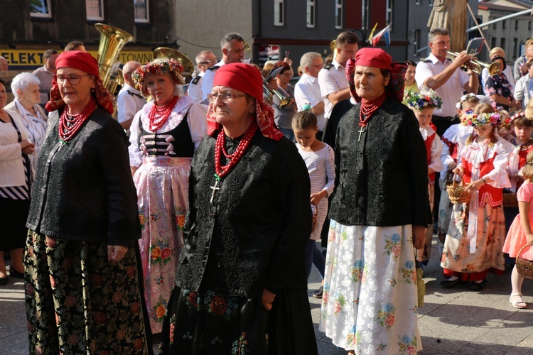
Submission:
[[[426,155],[428,157],[428,194],[429,205],[434,206],[435,196],[435,173],[443,170],[441,163],[442,142],[441,138],[436,133],[436,127],[431,123],[431,116],[433,116],[434,109],[440,109],[442,99],[438,97],[433,91],[428,93],[407,92],[406,95],[407,106],[409,106],[416,119],[419,121],[419,130],[424,138],[426,146]],[[431,211],[433,213],[433,211]],[[423,249],[418,249],[417,260],[427,265],[429,256],[431,256],[431,239],[433,237],[433,226],[426,229],[426,243]]]

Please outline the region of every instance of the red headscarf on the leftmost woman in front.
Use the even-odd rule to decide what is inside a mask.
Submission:
[[[102,84],[99,78],[99,69],[97,60],[90,55],[90,53],[81,50],[70,50],[63,52],[55,60],[55,72],[62,67],[72,67],[77,70],[82,70],[87,74],[95,75],[95,99],[99,106],[103,107],[109,114],[113,113],[113,97]],[[53,87],[50,89],[50,101],[46,104],[46,110],[51,112],[65,106],[65,102],[61,98],[58,83],[55,79],[52,80]]]

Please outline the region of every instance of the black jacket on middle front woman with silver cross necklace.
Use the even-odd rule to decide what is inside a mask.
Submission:
[[[226,138],[229,153],[239,139]],[[215,138],[195,152],[189,178],[188,236],[176,285],[198,291],[206,266],[222,269],[229,293],[260,297],[263,288],[306,290],[303,252],[311,235],[311,183],[287,138],[258,130],[242,160],[222,178],[213,203]],[[222,155],[223,158],[223,155]],[[224,162],[222,162],[224,165]]]

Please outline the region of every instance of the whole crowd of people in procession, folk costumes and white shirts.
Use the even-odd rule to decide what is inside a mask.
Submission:
[[[450,40],[393,62],[343,32],[294,87],[238,33],[188,84],[177,60],[126,62],[115,98],[80,42],[9,104],[0,80],[0,285],[25,282],[31,354],[317,354],[313,266],[333,344],[420,351],[434,228],[443,288],[481,291],[533,245],[533,41],[514,73],[501,48],[476,73]]]

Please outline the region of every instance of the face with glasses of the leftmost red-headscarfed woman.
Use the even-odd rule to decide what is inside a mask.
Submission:
[[[91,89],[95,87],[95,77],[72,67],[60,67],[56,72],[61,98],[76,114],[83,111],[90,102]]]

